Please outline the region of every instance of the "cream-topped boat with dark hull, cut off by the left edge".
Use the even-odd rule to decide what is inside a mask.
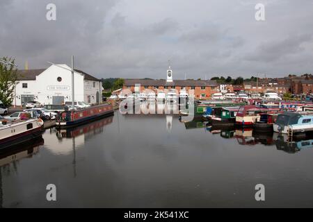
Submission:
[[[42,119],[0,123],[0,149],[24,144],[30,139],[41,137],[44,122]]]

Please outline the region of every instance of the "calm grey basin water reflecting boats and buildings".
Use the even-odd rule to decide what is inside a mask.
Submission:
[[[1,207],[313,207],[310,139],[118,112],[42,138],[0,155]]]

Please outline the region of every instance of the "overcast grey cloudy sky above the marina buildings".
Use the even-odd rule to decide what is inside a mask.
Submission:
[[[166,78],[168,60],[177,79],[313,74],[313,0],[0,1],[1,57],[36,69],[72,55],[99,78]]]

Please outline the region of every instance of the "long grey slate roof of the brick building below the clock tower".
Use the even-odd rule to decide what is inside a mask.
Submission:
[[[165,79],[125,79],[124,85],[126,86],[134,86],[136,84],[141,84],[143,86],[218,86],[216,80],[172,80],[172,83],[167,83]]]

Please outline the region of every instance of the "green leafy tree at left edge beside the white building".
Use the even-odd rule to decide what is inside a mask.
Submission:
[[[8,57],[2,58],[4,63],[0,62],[0,101],[6,107],[13,103],[15,96],[15,85],[17,84],[17,69],[15,69],[15,60]],[[8,62],[8,64],[6,64]]]

